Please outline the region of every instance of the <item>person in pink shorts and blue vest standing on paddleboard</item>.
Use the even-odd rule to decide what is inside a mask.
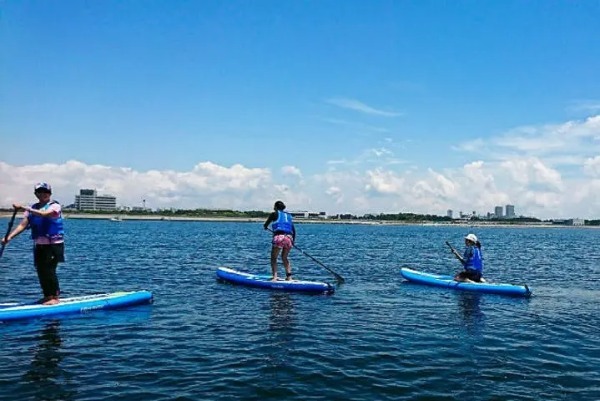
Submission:
[[[282,201],[275,202],[273,209],[275,211],[269,215],[263,225],[264,229],[268,230],[269,224],[273,224],[271,229],[273,232],[273,240],[271,241],[272,280],[277,281],[277,257],[279,256],[279,252],[281,252],[281,261],[283,262],[283,267],[285,267],[285,279],[291,280],[292,265],[290,264],[288,255],[296,240],[296,228],[294,227],[292,215],[284,212],[285,204]]]

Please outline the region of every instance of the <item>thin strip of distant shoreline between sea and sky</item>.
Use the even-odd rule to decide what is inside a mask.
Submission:
[[[11,213],[0,212],[0,218],[10,218]],[[21,218],[22,213],[18,213],[17,217]],[[197,221],[197,222],[237,222],[237,223],[263,223],[266,219],[258,217],[190,217],[190,216],[137,216],[123,214],[78,214],[64,213],[65,219],[73,220],[113,220],[115,222],[127,221]],[[436,226],[436,227],[503,227],[503,228],[600,228],[600,226],[567,226],[560,224],[547,223],[492,223],[492,222],[452,222],[452,223],[436,223],[436,222],[404,222],[390,220],[338,220],[338,219],[302,219],[296,218],[294,222],[298,224],[352,224],[352,225],[370,225],[370,226]]]

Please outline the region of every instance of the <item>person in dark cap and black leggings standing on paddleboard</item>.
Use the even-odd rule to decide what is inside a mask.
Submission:
[[[39,302],[43,305],[59,303],[60,287],[56,268],[58,263],[65,261],[64,228],[62,208],[60,203],[51,200],[52,187],[45,182],[34,186],[38,201],[31,206],[13,204],[16,210],[24,210],[21,223],[2,239],[8,243],[26,229],[31,229],[34,242],[33,262],[44,298]]]

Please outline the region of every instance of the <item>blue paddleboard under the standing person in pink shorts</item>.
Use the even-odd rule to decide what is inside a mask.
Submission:
[[[311,292],[311,293],[327,293],[331,294],[335,291],[333,285],[318,281],[304,280],[284,280],[282,278],[277,281],[271,281],[270,274],[251,274],[244,273],[229,267],[219,267],[217,269],[217,277],[223,281],[245,285],[248,287],[266,288],[270,290]]]

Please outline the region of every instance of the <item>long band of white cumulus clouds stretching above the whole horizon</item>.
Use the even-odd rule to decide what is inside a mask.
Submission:
[[[509,134],[501,135],[501,140],[490,138],[497,145],[510,143],[503,146],[502,158],[480,152],[477,160],[443,169],[428,167],[427,161],[424,167],[392,164],[389,147],[348,154],[347,160],[329,162],[322,166],[324,171],[310,175],[296,165],[278,167],[274,176],[268,168],[211,161],[188,171],[138,171],[75,160],[25,166],[0,162],[0,206],[33,201],[33,184],[47,181],[63,204],[72,203],[79,189],[92,188],[116,196],[120,205],[136,206],[146,200],[151,208],[267,211],[274,200],[282,199],[290,210],[329,214],[443,215],[453,209],[485,215],[495,206],[513,204],[518,215],[599,218],[599,129],[600,117],[590,117],[513,130],[510,135],[518,131],[526,140],[508,141],[516,138]],[[540,150],[533,144],[551,146]],[[567,163],[571,164],[565,168]],[[311,169],[319,171],[318,166]]]

